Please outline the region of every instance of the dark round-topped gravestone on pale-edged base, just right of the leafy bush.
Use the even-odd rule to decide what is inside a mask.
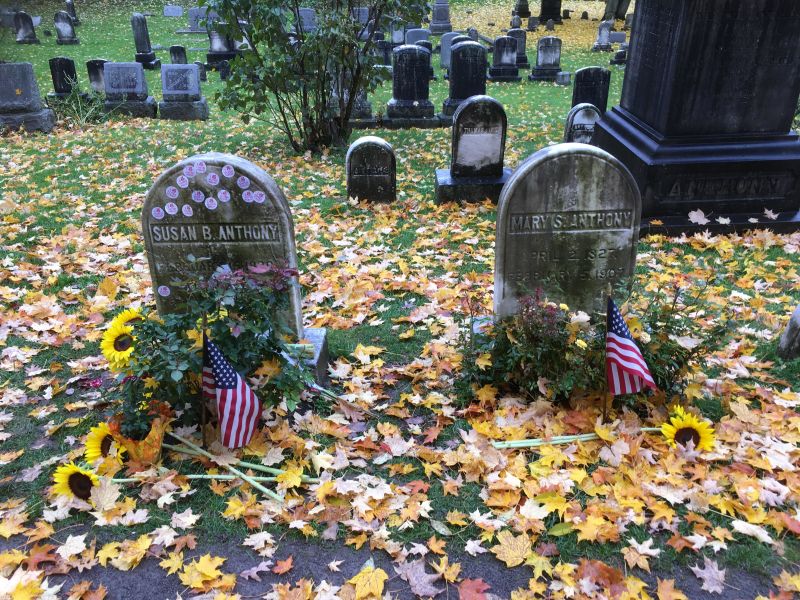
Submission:
[[[416,44],[398,46],[393,52],[392,99],[386,105],[386,115],[390,119],[432,119],[431,53]]]

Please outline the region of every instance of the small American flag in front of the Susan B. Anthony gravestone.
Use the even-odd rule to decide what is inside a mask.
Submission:
[[[261,403],[219,348],[203,334],[203,398],[217,403],[219,431],[227,448],[246,446],[261,416]]]

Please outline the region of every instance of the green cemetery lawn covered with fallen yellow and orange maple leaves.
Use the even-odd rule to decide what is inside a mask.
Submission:
[[[159,3],[79,3],[81,43],[64,47],[43,32],[61,4],[33,4],[31,13],[44,17],[41,46],[17,46],[3,31],[0,59],[33,63],[43,95],[53,56],[74,58],[84,86],[86,60],[133,60],[133,10],[155,14],[148,25],[162,61],[172,44],[186,45],[189,61],[204,57],[206,38],[172,33],[185,19],[162,17]],[[564,7],[599,17],[602,3]],[[453,0],[452,21],[494,37],[510,8]],[[557,30],[565,70],[607,66],[609,55],[589,51],[597,24],[573,18]],[[531,62],[541,35],[528,34]],[[610,105],[623,77],[612,72]],[[158,99],[157,74],[147,78]],[[714,323],[731,324],[730,341],[687,389],[688,404],[716,427],[714,452],[692,460],[660,434],[635,433],[664,421],[655,402],[615,404],[607,426],[596,402],[525,403],[481,389],[462,404],[453,381],[467,305],[479,316],[492,311],[495,207],[434,204],[434,170],[450,160],[449,129],[366,132],[394,147],[398,200],[356,204],[346,198],[345,149],[293,155],[269,125],[220,113],[212,101],[219,86],[209,73],[207,122],[61,122],[50,135],[0,137],[0,597],[17,585],[29,587],[25,597],[62,585],[66,597],[83,580],[114,598],[152,594],[152,585],[164,591],[158,597],[305,598],[313,588],[326,598],[625,590],[663,600],[685,597],[677,590],[690,598],[800,591],[800,361],[775,355],[800,302],[800,234],[641,240],[641,283],[705,285],[712,309],[696,315],[698,337]],[[441,76],[431,84],[437,110],[446,90]],[[572,88],[488,83],[487,93],[508,114],[507,166],[561,140]],[[370,98],[374,112],[390,94],[387,84]],[[211,151],[258,164],[286,194],[303,316],[329,330],[329,387],[370,412],[313,398],[294,414],[271,412],[248,458],[311,476],[315,464],[327,465],[321,477],[334,482],[281,482],[282,508],[235,482],[192,481],[184,489],[163,483],[150,499],[121,485],[119,496],[109,491],[105,511],[59,511],[50,493],[55,467],[80,461],[90,427],[116,410],[102,332],[120,310],[153,302],[144,196],[166,168]],[[627,307],[629,316],[642,308]],[[490,445],[596,427],[605,441],[536,452]],[[172,454],[164,464],[204,470]],[[27,573],[16,570],[23,561]]]

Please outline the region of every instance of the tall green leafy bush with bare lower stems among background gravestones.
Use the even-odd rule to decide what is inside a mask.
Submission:
[[[390,74],[379,65],[375,27],[394,19],[414,22],[427,12],[422,0],[204,0],[222,23],[214,27],[245,49],[217,99],[245,122],[262,119],[283,132],[295,151],[344,145],[359,93],[374,90]],[[304,30],[300,8],[316,9],[317,27]]]

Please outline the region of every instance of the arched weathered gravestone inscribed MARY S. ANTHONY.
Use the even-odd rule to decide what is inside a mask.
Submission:
[[[559,144],[529,157],[497,207],[495,317],[537,288],[572,310],[604,310],[607,286],[633,275],[640,212],[630,172],[599,148]]]

